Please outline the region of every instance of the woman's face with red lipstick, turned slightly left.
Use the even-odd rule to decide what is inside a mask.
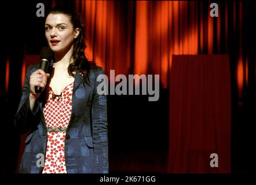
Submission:
[[[74,29],[70,17],[66,14],[49,14],[45,21],[45,36],[54,53],[68,52],[79,35],[79,28]]]

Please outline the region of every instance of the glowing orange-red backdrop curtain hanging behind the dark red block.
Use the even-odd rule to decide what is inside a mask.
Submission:
[[[56,2],[52,1],[52,6]],[[239,50],[239,60],[235,62],[241,99],[244,79],[248,79],[248,56],[242,52],[241,29],[242,8],[246,3],[219,2],[218,18],[210,16],[210,4],[210,1],[74,2],[85,19],[85,53],[89,60],[103,66],[107,75],[110,69],[115,69],[115,74],[160,74],[163,88],[169,88],[173,54],[227,54],[231,47],[228,30],[236,32],[238,35],[233,34],[231,40],[235,40],[234,46]],[[229,28],[232,21],[233,27]]]

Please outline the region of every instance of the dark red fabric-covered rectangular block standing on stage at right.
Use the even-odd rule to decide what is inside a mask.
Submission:
[[[173,56],[169,173],[231,171],[231,84],[226,55]],[[212,168],[212,153],[218,168]]]

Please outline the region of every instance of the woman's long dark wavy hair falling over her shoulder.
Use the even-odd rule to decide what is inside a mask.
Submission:
[[[79,35],[74,40],[72,52],[72,58],[74,61],[68,66],[68,74],[75,77],[73,72],[76,71],[76,69],[79,69],[79,71],[83,74],[84,82],[89,84],[90,68],[94,68],[96,64],[95,62],[89,62],[85,56],[85,23],[80,14],[65,6],[54,6],[54,8],[49,10],[47,16],[49,14],[58,13],[70,16],[70,21],[74,29],[79,28]]]

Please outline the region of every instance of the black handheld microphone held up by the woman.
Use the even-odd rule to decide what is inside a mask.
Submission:
[[[52,56],[53,51],[50,49],[50,47],[43,47],[40,54],[40,65],[38,69],[42,69],[45,73],[47,73],[49,62],[52,59]],[[42,87],[36,86],[35,92],[41,93]]]

